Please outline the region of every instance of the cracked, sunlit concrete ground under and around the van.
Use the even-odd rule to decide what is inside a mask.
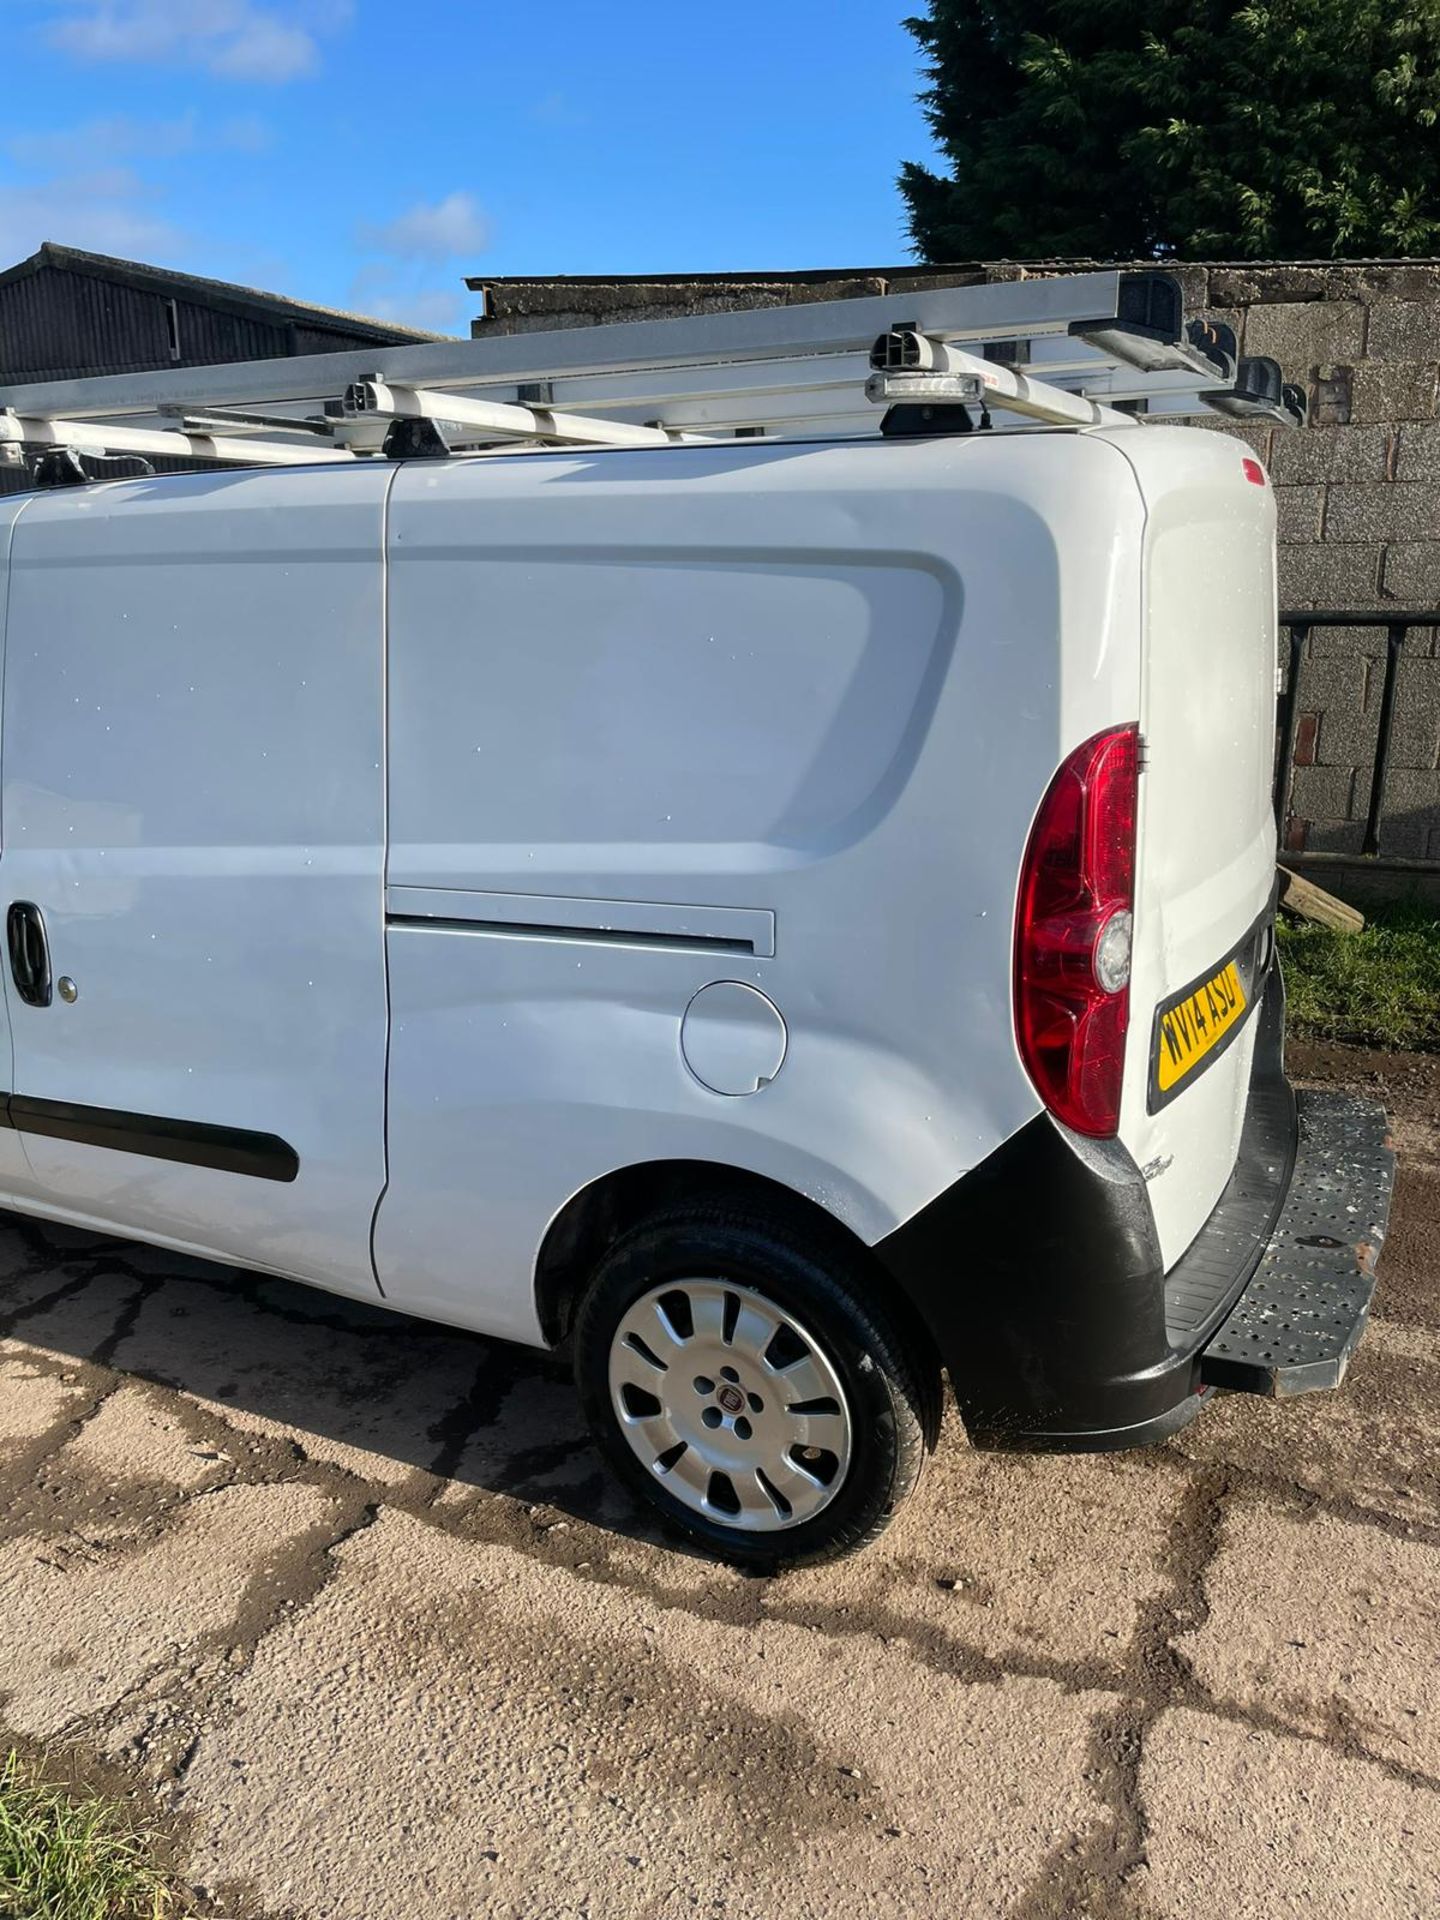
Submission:
[[[543,1359],[0,1221],[0,1722],[213,1912],[1440,1912],[1440,1062],[1340,1394],[948,1432],[877,1549],[664,1544]]]

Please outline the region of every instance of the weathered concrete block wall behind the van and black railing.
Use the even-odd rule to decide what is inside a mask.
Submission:
[[[472,280],[474,334],[839,300],[1083,273],[1114,261],[975,261],[808,275]],[[1123,265],[1146,265],[1123,263]],[[1434,609],[1405,636],[1380,856],[1440,864],[1440,261],[1185,263],[1190,315],[1227,321],[1309,394],[1309,426],[1235,428],[1267,465],[1281,520],[1281,607],[1375,611],[1315,628],[1300,660],[1296,772],[1284,843],[1359,854],[1384,684],[1386,611]],[[1404,874],[1396,879],[1400,889]]]

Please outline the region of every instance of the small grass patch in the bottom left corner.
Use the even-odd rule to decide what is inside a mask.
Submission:
[[[0,1916],[180,1920],[180,1908],[121,1807],[52,1786],[10,1753],[0,1763]]]

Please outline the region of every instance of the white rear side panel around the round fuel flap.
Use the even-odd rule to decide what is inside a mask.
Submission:
[[[545,1229],[616,1167],[745,1167],[876,1242],[1035,1116],[1025,837],[1139,712],[1110,445],[413,465],[390,530],[396,1304],[538,1342]],[[783,1021],[747,1094],[685,1058],[722,981]]]

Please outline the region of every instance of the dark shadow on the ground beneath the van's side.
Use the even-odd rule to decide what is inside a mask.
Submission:
[[[4,1340],[100,1369],[96,1394],[125,1379],[180,1394],[167,1404],[198,1446],[225,1423],[278,1473],[319,1461],[457,1519],[505,1494],[518,1515],[676,1544],[603,1469],[564,1363],[378,1302],[0,1213]]]

